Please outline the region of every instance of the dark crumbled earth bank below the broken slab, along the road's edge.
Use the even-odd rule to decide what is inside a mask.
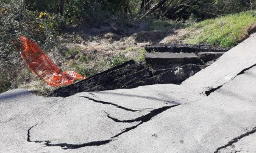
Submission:
[[[201,66],[195,64],[187,64],[172,69],[151,70],[145,64],[136,64],[131,60],[86,80],[60,87],[48,94],[48,96],[68,97],[79,92],[129,89],[152,84],[180,84],[194,75],[194,73],[199,72],[199,70],[201,70]]]

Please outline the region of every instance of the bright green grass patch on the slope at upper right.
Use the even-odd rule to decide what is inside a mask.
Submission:
[[[190,35],[185,41],[190,44],[210,44],[221,47],[233,47],[238,40],[247,35],[246,29],[256,24],[256,12],[242,12],[207,19],[191,25]]]

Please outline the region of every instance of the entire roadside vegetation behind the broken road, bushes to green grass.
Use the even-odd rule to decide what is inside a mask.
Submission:
[[[37,42],[62,70],[91,76],[144,62],[154,42],[233,47],[256,32],[254,0],[1,0],[0,93],[46,86],[20,58],[16,40]]]

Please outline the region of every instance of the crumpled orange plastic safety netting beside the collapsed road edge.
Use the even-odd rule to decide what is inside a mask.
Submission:
[[[72,84],[76,80],[84,80],[79,73],[74,71],[60,72],[59,68],[51,61],[43,49],[34,41],[20,37],[21,41],[21,58],[29,69],[45,81],[49,86],[61,86]]]

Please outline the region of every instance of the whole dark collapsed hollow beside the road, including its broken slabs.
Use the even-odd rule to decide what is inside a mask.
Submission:
[[[181,84],[229,50],[190,44],[152,44],[145,49],[146,63],[127,61],[86,80],[60,87],[48,96],[69,97],[79,92],[131,89],[153,84]]]

